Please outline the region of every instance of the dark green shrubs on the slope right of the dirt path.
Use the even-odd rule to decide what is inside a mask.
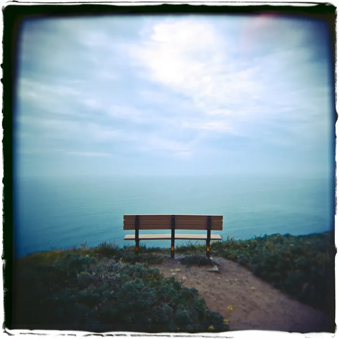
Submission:
[[[334,232],[265,234],[211,244],[213,255],[239,262],[274,287],[334,314]]]

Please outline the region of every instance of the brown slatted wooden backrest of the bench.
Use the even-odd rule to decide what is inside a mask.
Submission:
[[[136,229],[136,216],[127,214],[123,216],[123,229]],[[207,230],[209,216],[175,215],[176,230]],[[210,216],[211,230],[222,231],[223,216]],[[172,228],[173,215],[140,214],[138,217],[139,230],[170,230]]]

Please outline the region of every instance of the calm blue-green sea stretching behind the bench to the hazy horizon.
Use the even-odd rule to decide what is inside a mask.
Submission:
[[[15,181],[14,196],[18,256],[85,242],[127,245],[123,237],[133,231],[123,231],[123,214],[223,215],[224,230],[216,233],[238,239],[334,227],[328,178],[26,178]],[[169,241],[144,243],[170,247]]]

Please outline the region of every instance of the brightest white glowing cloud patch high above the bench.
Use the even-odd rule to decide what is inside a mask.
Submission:
[[[228,58],[228,48],[206,20],[179,19],[155,24],[148,40],[134,46],[131,53],[149,69],[154,81],[185,94],[204,111],[259,94],[255,69],[244,69]]]

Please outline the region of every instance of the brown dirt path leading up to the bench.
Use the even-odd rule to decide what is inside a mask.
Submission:
[[[196,288],[208,308],[228,319],[231,330],[331,331],[323,312],[294,300],[236,262],[216,257],[213,261],[218,272],[208,271],[211,266],[187,267],[178,259],[165,259],[151,267]]]

